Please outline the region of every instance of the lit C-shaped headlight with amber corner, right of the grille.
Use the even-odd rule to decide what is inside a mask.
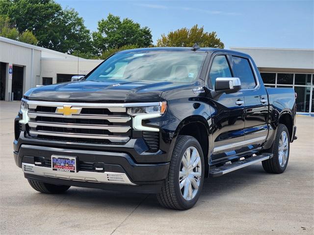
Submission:
[[[159,131],[157,127],[143,126],[144,119],[158,118],[166,112],[167,102],[159,102],[154,106],[132,107],[128,109],[128,114],[133,116],[133,128],[138,131]]]

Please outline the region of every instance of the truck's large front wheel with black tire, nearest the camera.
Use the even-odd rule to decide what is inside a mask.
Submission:
[[[185,157],[185,152],[190,153],[190,158]],[[197,161],[193,161],[196,159]],[[193,162],[197,164],[194,168]],[[159,204],[175,210],[192,208],[201,194],[204,174],[205,164],[201,145],[194,137],[179,136],[172,153],[168,176],[162,184],[161,192],[157,194]]]

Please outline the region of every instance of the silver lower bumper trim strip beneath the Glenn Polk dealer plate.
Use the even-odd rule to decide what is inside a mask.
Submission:
[[[62,180],[73,180],[93,183],[133,185],[125,173],[119,172],[89,172],[78,171],[76,173],[53,171],[50,167],[37,166],[34,164],[22,163],[24,173],[40,175],[44,177],[57,178]]]

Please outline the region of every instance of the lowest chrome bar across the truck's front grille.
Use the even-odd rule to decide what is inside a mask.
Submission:
[[[64,133],[54,131],[29,131],[30,135],[43,135],[43,136],[58,136],[58,137],[70,137],[70,138],[86,138],[86,139],[102,139],[110,142],[126,143],[130,140],[129,137],[124,136],[108,136],[108,135],[89,135],[89,134],[76,134],[76,133]]]

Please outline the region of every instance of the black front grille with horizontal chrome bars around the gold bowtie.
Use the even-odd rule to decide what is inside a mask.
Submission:
[[[56,113],[65,106],[78,114]],[[131,117],[119,105],[31,101],[28,108],[29,138],[105,144],[125,144],[131,138]]]

